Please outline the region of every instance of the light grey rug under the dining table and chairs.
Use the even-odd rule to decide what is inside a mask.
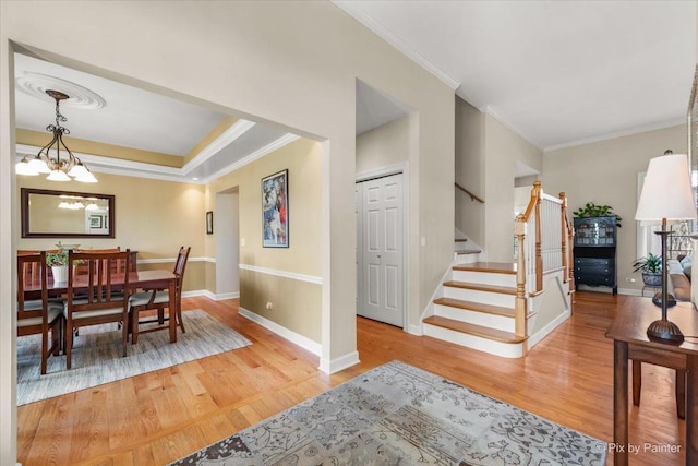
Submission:
[[[182,319],[186,333],[178,328],[177,343],[170,343],[167,331],[140,334],[137,344],[129,342],[125,358],[116,323],[82,327],[73,344],[73,368],[65,369],[65,356],[51,356],[46,375],[39,371],[40,335],[17,338],[17,406],[251,344],[205,311],[186,311]]]

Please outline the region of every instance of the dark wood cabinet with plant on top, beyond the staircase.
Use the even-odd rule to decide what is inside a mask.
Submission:
[[[575,218],[575,285],[606,286],[618,292],[615,216]]]

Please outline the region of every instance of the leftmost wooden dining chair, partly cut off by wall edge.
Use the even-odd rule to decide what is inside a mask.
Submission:
[[[17,254],[17,336],[41,334],[41,375],[48,357],[60,353],[62,332],[63,303],[48,297],[46,252]]]

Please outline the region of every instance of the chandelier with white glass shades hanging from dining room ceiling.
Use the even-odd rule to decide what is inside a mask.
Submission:
[[[61,122],[68,121],[60,112],[59,105],[61,100],[70,98],[67,94],[59,91],[46,91],[46,94],[56,100],[56,124],[46,127],[46,131],[53,133],[53,139],[39,151],[36,156],[25,155],[15,166],[17,175],[36,176],[39,174],[48,174],[46,177],[50,181],[71,181],[73,177],[75,181],[85,183],[96,183],[97,178],[89,171],[80,158],[75,157],[63,142],[63,134],[70,134],[68,128],[61,127]],[[61,158],[61,151],[68,155]],[[51,153],[56,157],[51,157]],[[27,159],[27,157],[29,157]]]

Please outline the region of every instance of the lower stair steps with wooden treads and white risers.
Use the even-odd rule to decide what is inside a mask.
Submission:
[[[434,314],[423,320],[425,335],[504,357],[526,354],[527,337],[514,333],[516,264],[455,265],[443,289]]]

